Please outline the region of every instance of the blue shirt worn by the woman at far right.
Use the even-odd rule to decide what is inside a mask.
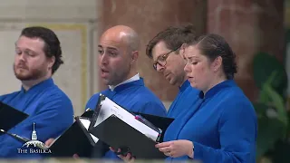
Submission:
[[[170,124],[165,141],[192,141],[194,158],[203,163],[255,163],[256,111],[243,91],[228,80],[202,95],[194,107]]]

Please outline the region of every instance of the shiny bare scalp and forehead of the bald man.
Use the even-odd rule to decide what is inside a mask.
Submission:
[[[129,47],[131,51],[140,50],[140,39],[138,34],[129,26],[117,25],[105,31],[101,40],[110,40],[116,43],[121,43]]]

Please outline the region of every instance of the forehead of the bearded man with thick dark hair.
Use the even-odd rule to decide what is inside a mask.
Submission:
[[[43,50],[44,42],[40,38],[29,38],[20,36],[16,41],[15,45],[18,48],[31,49],[33,51]]]

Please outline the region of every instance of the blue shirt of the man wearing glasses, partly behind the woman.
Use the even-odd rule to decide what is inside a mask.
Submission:
[[[190,86],[190,82],[183,82],[179,93],[169,107],[167,116],[177,118],[183,111],[188,111],[198,101],[200,91]]]

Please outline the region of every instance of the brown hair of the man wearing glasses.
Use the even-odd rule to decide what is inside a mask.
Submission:
[[[176,50],[192,38],[196,38],[196,31],[192,24],[169,26],[150,40],[146,48],[146,55],[152,58],[152,49],[161,41],[166,44],[169,50]]]

